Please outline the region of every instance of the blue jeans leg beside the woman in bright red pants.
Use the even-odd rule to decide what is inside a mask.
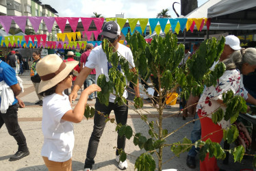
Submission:
[[[198,118],[199,118],[199,115],[196,112],[194,119],[198,119]],[[197,140],[199,140],[200,138],[201,138],[201,122],[200,122],[200,120],[196,120],[196,121],[194,121],[194,127],[191,132],[190,140],[192,141],[192,143],[194,143]],[[196,148],[194,146],[192,146],[192,148],[188,152],[188,155],[191,157],[196,157],[197,152],[196,152]]]

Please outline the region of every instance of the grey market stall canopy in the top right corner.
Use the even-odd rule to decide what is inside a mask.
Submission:
[[[222,0],[208,8],[207,18],[212,23],[256,24],[256,1]]]

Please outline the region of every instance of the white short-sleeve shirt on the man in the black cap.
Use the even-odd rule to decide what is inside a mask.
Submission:
[[[133,62],[133,55],[131,53],[131,49],[128,47],[125,47],[125,45],[118,43],[118,55],[122,55],[125,57],[125,59],[128,60],[129,62],[129,68],[134,68],[134,62]],[[99,75],[104,74],[108,78],[108,68],[107,68],[107,56],[105,55],[101,45],[99,47],[95,47],[92,49],[90,52],[90,55],[88,57],[88,62],[86,62],[86,67],[88,68],[95,68],[96,70],[96,80],[95,82],[97,83],[97,79]],[[121,73],[123,73],[123,70],[121,70]],[[123,73],[124,75],[124,73]],[[123,97],[127,98],[128,93],[127,90],[125,90]],[[110,102],[114,103],[116,96],[113,94],[110,94]]]

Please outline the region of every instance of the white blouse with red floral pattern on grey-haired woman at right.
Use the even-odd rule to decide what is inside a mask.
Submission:
[[[226,70],[225,73],[217,80],[216,86],[205,88],[199,103],[196,106],[196,111],[201,113],[202,116],[211,114],[216,111],[219,107],[226,111],[226,107],[217,102],[222,100],[222,93],[232,90],[235,95],[240,95],[244,99],[247,99],[247,91],[244,88],[242,81],[242,75],[239,70]],[[212,115],[207,116],[212,118]],[[229,120],[222,119],[218,124],[223,128],[230,126]]]

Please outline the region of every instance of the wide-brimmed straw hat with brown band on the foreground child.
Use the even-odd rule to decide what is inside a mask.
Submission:
[[[38,93],[44,92],[57,85],[57,83],[60,83],[60,81],[64,80],[71,73],[71,70],[77,64],[77,61],[63,62],[56,54],[43,57],[36,64],[36,72],[41,78]]]

